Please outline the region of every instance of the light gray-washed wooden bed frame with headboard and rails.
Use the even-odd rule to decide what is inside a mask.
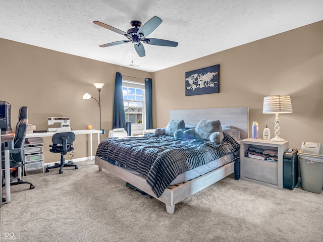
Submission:
[[[248,116],[247,107],[170,110],[170,120],[184,119],[185,124],[188,125],[197,125],[199,120],[203,118],[219,119],[222,125],[231,125],[239,130],[241,139],[248,138]],[[146,180],[141,176],[133,174],[119,166],[112,165],[97,156],[95,156],[95,164],[98,165],[99,171],[103,168],[141,191],[165,203],[166,210],[170,214],[174,213],[175,204],[234,172],[234,162],[231,162],[195,179],[186,181],[179,186],[168,187],[161,196],[157,198]]]

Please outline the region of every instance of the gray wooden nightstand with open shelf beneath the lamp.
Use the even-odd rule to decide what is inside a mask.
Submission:
[[[277,150],[278,162],[245,157],[248,147]],[[283,189],[283,157],[288,141],[275,142],[263,139],[244,139],[240,144],[240,178],[271,188]]]

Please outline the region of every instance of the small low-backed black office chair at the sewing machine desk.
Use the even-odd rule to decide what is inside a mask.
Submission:
[[[55,165],[46,167],[45,172],[48,172],[48,169],[57,168],[60,167],[60,174],[63,173],[63,167],[64,166],[73,166],[75,169],[77,169],[77,165],[74,164],[74,162],[69,161],[65,163],[64,155],[67,154],[67,152],[70,152],[74,150],[72,147],[73,141],[75,140],[75,134],[73,132],[63,132],[63,133],[57,133],[52,136],[52,145],[51,149],[49,150],[52,153],[61,153],[61,163],[55,163]]]

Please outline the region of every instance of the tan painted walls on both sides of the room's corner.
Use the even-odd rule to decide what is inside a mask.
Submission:
[[[115,74],[121,72],[153,78],[154,128],[167,125],[170,109],[247,106],[250,130],[252,120],[258,121],[261,137],[265,125],[273,136],[275,118],[262,113],[263,97],[290,95],[294,112],[280,115],[281,137],[299,149],[302,141],[323,142],[322,42],[323,21],[151,74],[0,39],[0,100],[12,104],[13,130],[23,105],[37,130],[47,129],[48,116],[61,115],[70,116],[74,130],[99,129],[97,103],[82,96],[88,92],[97,98],[92,83],[102,82],[102,128],[109,130]],[[185,72],[217,64],[220,93],[186,97]],[[87,142],[87,136],[77,136],[74,158],[89,156]],[[48,152],[49,144],[45,138],[45,162],[59,160]]]

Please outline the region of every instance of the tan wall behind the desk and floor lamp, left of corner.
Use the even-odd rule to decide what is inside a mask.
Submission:
[[[92,85],[102,82],[102,129],[112,129],[113,98],[116,72],[138,78],[151,78],[152,74],[131,68],[93,61],[27,44],[0,38],[0,100],[11,103],[12,129],[15,131],[18,110],[29,108],[29,124],[37,130],[47,130],[47,117],[69,116],[73,130],[92,125],[99,129],[99,108],[95,100],[83,100],[84,93],[98,99]],[[136,80],[138,81],[138,80]],[[143,82],[143,80],[142,80]],[[97,146],[96,135],[94,147]],[[107,134],[102,136],[107,138]],[[58,161],[58,154],[50,153],[45,141],[45,162]],[[90,156],[87,135],[76,136],[75,157]],[[93,152],[95,154],[96,148]]]

